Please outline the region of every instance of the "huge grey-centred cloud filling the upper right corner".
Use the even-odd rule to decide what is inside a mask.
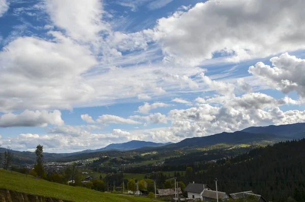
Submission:
[[[176,63],[190,65],[215,56],[236,62],[294,51],[305,47],[304,6],[293,0],[207,1],[159,19],[155,39]]]

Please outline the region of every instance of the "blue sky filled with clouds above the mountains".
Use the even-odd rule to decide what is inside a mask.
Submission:
[[[0,145],[64,153],[305,122],[303,8],[0,0]]]

